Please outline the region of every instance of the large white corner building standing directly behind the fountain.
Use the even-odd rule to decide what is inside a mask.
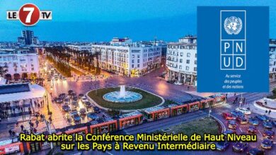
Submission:
[[[131,39],[113,39],[110,44],[93,44],[92,52],[100,52],[99,66],[120,75],[144,75],[161,63],[161,46],[132,43]]]

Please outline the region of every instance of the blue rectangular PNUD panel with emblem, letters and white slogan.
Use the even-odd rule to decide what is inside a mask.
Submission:
[[[197,92],[269,91],[268,7],[198,6],[197,35]]]

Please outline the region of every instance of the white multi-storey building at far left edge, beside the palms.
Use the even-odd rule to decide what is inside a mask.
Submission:
[[[0,66],[8,70],[5,77],[9,80],[36,77],[39,74],[38,54],[29,49],[0,49]]]

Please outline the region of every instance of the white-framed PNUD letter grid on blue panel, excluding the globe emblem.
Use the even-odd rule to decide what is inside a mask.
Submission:
[[[241,18],[242,29],[237,35],[224,30],[224,20],[231,16]],[[246,70],[246,11],[220,12],[221,70]]]

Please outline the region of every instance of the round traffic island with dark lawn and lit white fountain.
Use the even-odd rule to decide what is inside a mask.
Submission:
[[[93,89],[86,96],[93,104],[105,110],[134,111],[164,103],[164,99],[156,94],[124,85]]]

